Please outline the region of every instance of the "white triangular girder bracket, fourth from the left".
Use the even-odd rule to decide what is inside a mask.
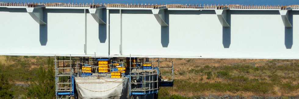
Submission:
[[[215,10],[216,15],[223,27],[230,27],[226,21],[226,10]]]

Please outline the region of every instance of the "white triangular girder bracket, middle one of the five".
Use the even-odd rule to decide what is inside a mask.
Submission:
[[[152,9],[152,12],[161,26],[168,26],[168,24],[165,22],[164,9]]]

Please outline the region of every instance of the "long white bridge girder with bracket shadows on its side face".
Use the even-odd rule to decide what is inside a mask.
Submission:
[[[0,22],[0,55],[299,59],[298,9],[0,6]]]

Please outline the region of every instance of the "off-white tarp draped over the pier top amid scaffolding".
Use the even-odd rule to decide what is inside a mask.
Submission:
[[[77,77],[79,99],[126,99],[128,78]]]

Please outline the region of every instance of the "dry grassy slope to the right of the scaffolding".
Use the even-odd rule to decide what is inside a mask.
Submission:
[[[172,88],[160,96],[299,95],[299,61],[268,59],[171,59],[175,66]],[[164,64],[170,65],[170,64]],[[160,91],[161,92],[161,91]]]

